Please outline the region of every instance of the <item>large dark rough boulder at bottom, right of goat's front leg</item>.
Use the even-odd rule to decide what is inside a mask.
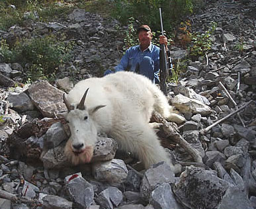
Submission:
[[[198,167],[187,167],[181,173],[173,192],[178,200],[191,209],[218,208],[229,183]]]

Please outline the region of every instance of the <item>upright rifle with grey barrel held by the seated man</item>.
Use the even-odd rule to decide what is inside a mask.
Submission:
[[[161,15],[161,8],[159,8],[160,13],[160,21],[161,21],[161,32],[163,36],[163,21],[162,21],[162,15]],[[160,89],[163,91],[165,95],[167,95],[167,84],[166,84],[166,78],[169,74],[168,65],[167,65],[167,54],[166,54],[165,44],[160,45]]]

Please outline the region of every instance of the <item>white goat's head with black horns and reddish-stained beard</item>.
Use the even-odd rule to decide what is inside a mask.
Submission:
[[[97,140],[97,128],[92,119],[93,114],[105,105],[98,105],[92,108],[85,106],[85,98],[89,88],[85,91],[78,105],[71,105],[63,95],[67,114],[65,119],[69,124],[71,136],[65,146],[65,155],[69,160],[77,165],[79,163],[89,163],[93,157],[93,146]]]

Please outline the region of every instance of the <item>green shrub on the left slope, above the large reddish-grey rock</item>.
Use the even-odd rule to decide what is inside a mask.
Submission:
[[[0,54],[3,62],[19,62],[23,66],[29,63],[26,73],[32,81],[54,77],[60,65],[71,58],[70,52],[74,46],[73,42],[65,43],[62,38],[55,36],[24,39],[13,49],[5,41],[2,42]]]

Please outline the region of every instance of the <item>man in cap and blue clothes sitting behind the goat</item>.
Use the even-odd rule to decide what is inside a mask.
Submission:
[[[130,47],[120,63],[114,68],[114,71],[135,71],[145,75],[153,83],[159,83],[159,52],[160,48],[151,43],[153,34],[148,25],[142,24],[138,28],[138,38],[140,44]],[[167,49],[167,38],[160,36],[160,44],[165,44]],[[110,69],[105,71],[104,75],[112,73]]]

